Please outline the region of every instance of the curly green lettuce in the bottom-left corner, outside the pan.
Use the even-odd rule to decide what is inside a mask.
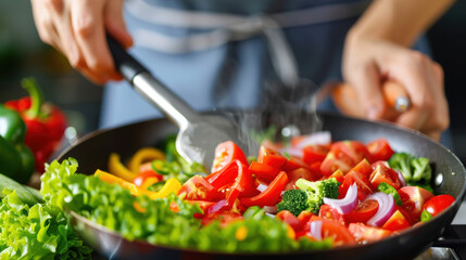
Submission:
[[[4,188],[0,203],[0,259],[90,259],[63,213],[49,205],[29,207]]]

